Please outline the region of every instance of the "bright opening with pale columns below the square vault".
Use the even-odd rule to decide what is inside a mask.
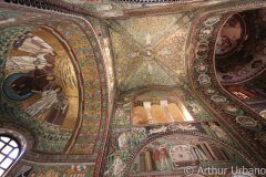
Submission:
[[[191,104],[192,112],[200,107]],[[171,124],[193,122],[194,117],[174,92],[150,91],[132,101],[131,119],[133,125]]]

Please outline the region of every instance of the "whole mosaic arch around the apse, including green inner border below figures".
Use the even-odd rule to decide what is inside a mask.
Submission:
[[[73,63],[78,69],[75,73],[81,82],[78,85],[80,91],[78,103],[81,104],[79,108],[80,114],[79,119],[71,124],[73,129],[58,131],[58,128],[54,129],[50,124],[41,123],[40,126],[37,119],[33,118],[21,121],[25,114],[19,114],[21,113],[20,110],[16,112],[10,108],[9,106],[14,104],[14,102],[8,102],[0,107],[1,113],[4,114],[1,119],[28,126],[28,129],[37,136],[37,144],[34,144],[32,150],[27,153],[27,160],[96,163],[94,166],[95,170],[92,169],[91,173],[98,174],[105,150],[104,145],[109,131],[110,108],[108,102],[110,93],[108,90],[110,85],[106,84],[106,80],[109,80],[106,77],[106,63],[103,60],[103,49],[96,37],[95,29],[89,21],[81,17],[51,14],[50,12],[34,11],[33,9],[23,7],[21,9],[16,9],[16,12],[20,17],[28,15],[27,13],[29,12],[35,12],[40,17],[43,17],[43,19],[29,20],[27,23],[20,23],[19,28],[6,27],[6,31],[8,32],[12,28],[27,28],[24,30],[27,32],[34,28],[45,28],[60,39],[60,43],[70,51]],[[3,9],[7,14],[9,13],[8,10],[10,12],[14,11],[14,9],[8,7]],[[17,25],[17,23],[13,24]],[[11,40],[4,39],[4,43],[12,41],[17,37]],[[10,48],[10,43],[8,46]],[[4,56],[7,54],[8,50],[6,50]],[[3,112],[2,108],[6,107],[8,107],[8,111]],[[14,118],[16,116],[10,116],[8,113],[16,114],[17,116],[20,115],[22,118]]]

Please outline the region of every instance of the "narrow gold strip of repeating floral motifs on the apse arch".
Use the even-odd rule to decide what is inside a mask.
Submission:
[[[53,24],[57,25],[57,24]],[[58,28],[63,28],[59,25]],[[68,32],[68,33],[66,33]],[[100,126],[100,110],[101,110],[101,93],[100,93],[100,79],[98,66],[95,63],[95,55],[93,53],[93,46],[89,43],[85,33],[80,31],[78,25],[72,24],[72,27],[68,27],[68,31],[63,32],[65,38],[71,41],[76,41],[76,43],[71,44],[74,52],[79,56],[79,63],[81,65],[82,75],[89,75],[83,77],[84,80],[84,106],[88,107],[84,110],[83,115],[83,124],[80,137],[78,137],[78,144],[73,147],[73,153],[93,153],[94,139],[98,134],[94,133],[96,128]],[[78,42],[80,41],[80,42]],[[86,45],[86,50],[83,50],[81,44]],[[96,43],[94,43],[96,45]],[[90,50],[89,50],[90,49]],[[86,58],[90,56],[90,58]],[[83,59],[85,59],[83,61]],[[91,102],[91,101],[94,102]],[[90,107],[90,108],[89,108]],[[92,124],[94,123],[94,124]],[[93,127],[92,127],[93,125]],[[90,127],[90,128],[89,128]],[[90,136],[90,137],[89,137]],[[88,137],[88,138],[86,138]]]

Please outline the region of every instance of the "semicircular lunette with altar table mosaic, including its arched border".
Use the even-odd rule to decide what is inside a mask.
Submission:
[[[163,160],[160,159],[161,153],[162,158],[165,158]],[[253,162],[244,154],[223,140],[214,139],[201,133],[171,132],[151,136],[142,142],[131,153],[123,169],[125,176],[145,176],[147,174],[147,176],[193,175],[186,174],[190,171],[186,171],[185,167],[190,166],[194,171],[200,171],[197,168],[204,168],[204,164],[223,162],[223,168],[225,169],[223,175],[226,175],[228,173],[226,164],[228,168],[235,166],[236,162],[234,160],[236,158],[237,163],[241,160],[238,164],[241,167],[253,166]],[[137,162],[140,162],[139,166],[136,166]],[[145,174],[145,171],[150,173]]]

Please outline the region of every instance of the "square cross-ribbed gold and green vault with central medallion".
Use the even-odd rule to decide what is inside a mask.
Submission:
[[[185,80],[185,48],[195,14],[109,20],[117,87],[175,86]]]

